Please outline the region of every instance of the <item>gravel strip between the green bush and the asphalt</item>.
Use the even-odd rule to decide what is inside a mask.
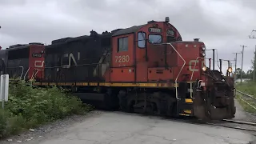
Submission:
[[[64,130],[63,128],[67,129],[72,127],[74,124],[84,122],[88,117],[97,117],[101,113],[101,111],[92,111],[86,115],[73,115],[50,124],[40,126],[37,129],[32,129],[25,133],[3,139],[0,143],[14,144],[33,141],[34,139],[43,139],[46,137],[46,134],[53,133],[54,131],[56,131],[56,133],[61,133],[61,131]]]

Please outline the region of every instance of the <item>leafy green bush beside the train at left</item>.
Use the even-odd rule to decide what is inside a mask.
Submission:
[[[57,87],[32,88],[10,83],[9,101],[0,110],[0,138],[18,134],[70,114],[86,114],[92,107]]]

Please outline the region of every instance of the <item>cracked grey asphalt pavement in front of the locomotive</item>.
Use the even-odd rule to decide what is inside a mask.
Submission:
[[[234,129],[174,122],[161,117],[101,112],[26,144],[247,144],[253,135]]]

